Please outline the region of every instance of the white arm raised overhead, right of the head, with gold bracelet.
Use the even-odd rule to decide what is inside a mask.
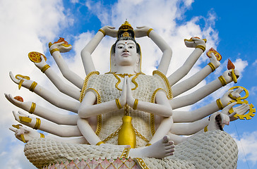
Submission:
[[[160,35],[158,35],[150,27],[136,27],[136,28],[138,28],[137,30],[135,30],[136,37],[145,37],[145,36],[150,37],[150,39],[152,39],[153,42],[155,42],[155,44],[162,51],[162,59],[160,61],[160,64],[157,70],[159,70],[164,75],[166,75],[167,70],[169,68],[170,60],[172,59],[172,49],[165,42],[165,40],[162,39],[162,37],[160,37]]]

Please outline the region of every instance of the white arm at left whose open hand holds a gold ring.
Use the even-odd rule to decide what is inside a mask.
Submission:
[[[49,92],[44,87],[41,87],[36,82],[33,82],[32,80],[25,80],[20,77],[16,79],[16,77],[13,76],[13,74],[10,72],[10,77],[13,80],[13,82],[16,82],[16,84],[20,84],[20,81],[23,80],[22,86],[30,89],[30,91],[35,92],[37,95],[41,96],[43,99],[49,101],[51,104],[54,104],[54,106],[57,106],[59,108],[63,108],[67,111],[72,111],[74,113],[78,113],[78,108],[80,106],[80,103],[78,101],[71,101],[67,99],[63,99],[60,96],[56,96],[52,92]]]

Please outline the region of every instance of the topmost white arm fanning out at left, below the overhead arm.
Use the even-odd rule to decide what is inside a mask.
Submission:
[[[65,47],[62,44],[64,44],[64,42],[52,44],[52,46],[49,47],[49,51],[61,70],[61,74],[64,75],[64,77],[72,84],[76,85],[76,87],[82,89],[84,80],[68,68],[64,58],[61,56],[61,53],[71,50],[72,46]]]

